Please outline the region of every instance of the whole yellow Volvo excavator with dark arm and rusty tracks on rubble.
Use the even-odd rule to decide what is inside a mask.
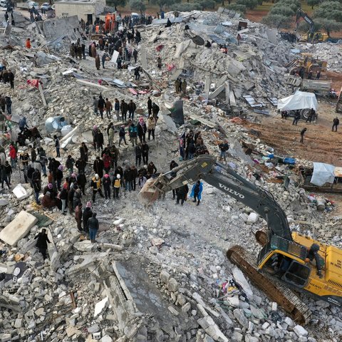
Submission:
[[[257,257],[239,246],[231,247],[227,257],[271,301],[276,301],[298,323],[306,323],[311,313],[291,289],[341,306],[342,250],[291,232],[286,214],[271,193],[245,180],[230,167],[217,162],[215,157],[199,155],[155,179],[151,178],[142,187],[138,198],[148,206],[158,197],[164,197],[165,192],[197,180],[204,180],[242,202],[266,220],[267,232],[256,233],[257,242],[262,246]],[[316,264],[312,263],[312,252]]]

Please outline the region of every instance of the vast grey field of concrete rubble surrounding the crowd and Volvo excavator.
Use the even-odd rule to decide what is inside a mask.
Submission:
[[[228,20],[232,23],[227,24]],[[219,22],[225,26],[217,27]],[[74,21],[69,24],[74,25]],[[189,30],[185,30],[185,25]],[[156,140],[148,144],[150,160],[157,165],[157,172],[166,172],[170,160],[178,160],[179,136],[187,129],[201,130],[212,155],[219,155],[217,142],[227,138],[230,155],[227,164],[274,195],[292,230],[312,236],[318,226],[318,239],[338,246],[341,217],[318,212],[316,204],[299,186],[293,169],[276,162],[271,146],[239,125],[239,121],[229,119],[224,110],[204,100],[204,83],[209,83],[210,91],[227,81],[234,98],[241,99],[240,104],[244,102],[244,94],[286,95],[286,88],[279,80],[284,72],[282,65],[291,59],[290,46],[261,24],[249,23],[248,27],[239,45],[234,42],[237,21],[224,18],[224,14],[218,17],[214,13],[195,12],[187,22],[170,28],[138,28],[142,32],[142,65],[146,53],[144,87],[158,90],[133,98],[128,91],[131,86],[135,88],[130,69],[118,71],[108,63],[104,70],[97,71],[93,58],[74,61],[68,56],[66,46],[77,37],[59,33],[53,36],[46,24],[41,29],[48,32],[48,37],[33,36],[31,50],[22,48],[24,31],[16,33],[21,46],[14,46],[11,51],[0,50],[1,59],[16,71],[18,85],[9,90],[1,83],[1,90],[11,94],[12,120],[17,122],[25,114],[28,123],[36,125],[43,135],[41,144],[48,155],[53,155],[52,136],[61,136],[61,132],[46,132],[46,119],[61,116],[72,125],[71,140],[66,139],[68,143],[61,152],[63,165],[68,154],[79,155],[82,141],[92,142],[93,125],[97,124],[104,132],[110,122],[109,119],[101,122],[93,113],[93,96],[102,93],[110,100],[133,99],[140,114],[146,116],[147,95],[155,95],[153,100],[161,111]],[[195,35],[211,41],[228,37],[232,44],[227,44],[226,55],[215,44],[210,49],[195,46],[191,39]],[[58,44],[48,48],[48,40]],[[167,66],[166,70],[156,71],[152,62],[155,48],[160,45],[163,47],[158,55]],[[177,127],[167,115],[170,113],[167,108],[178,95],[173,85],[172,90],[168,88],[167,82],[189,75],[193,75],[187,78],[189,99],[183,101],[186,120]],[[148,76],[152,77],[152,86]],[[123,88],[111,86],[112,78],[115,84],[123,80]],[[27,81],[35,79],[41,81],[41,91],[27,85]],[[252,116],[249,113],[249,118]],[[202,125],[195,125],[198,123]],[[252,150],[252,155],[245,153],[245,147]],[[119,165],[130,165],[135,160],[130,145],[120,147],[120,153]],[[90,150],[90,164],[96,155]],[[307,163],[296,160],[296,165]],[[91,172],[88,165],[86,174]],[[284,176],[289,177],[286,186]],[[22,175],[14,172],[12,182],[22,181]],[[313,315],[308,326],[299,326],[227,260],[225,252],[234,244],[257,255],[259,247],[254,233],[266,229],[266,222],[252,209],[209,185],[204,186],[199,207],[190,199],[184,207],[177,206],[167,194],[165,201],[146,209],[139,204],[137,192],[138,186],[136,192],[122,191],[119,201],[98,199],[93,204],[100,221],[96,244],[78,232],[71,215],[63,216],[57,209],[46,212],[38,209],[28,184],[17,186],[13,192],[0,193],[1,341],[341,339],[340,309],[304,296]],[[83,200],[90,196],[91,190],[87,188]],[[45,262],[34,240],[41,227],[46,227],[51,241],[50,258]],[[11,234],[14,231],[16,234]]]

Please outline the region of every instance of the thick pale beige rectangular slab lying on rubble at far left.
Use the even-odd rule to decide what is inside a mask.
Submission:
[[[0,239],[6,244],[16,246],[16,243],[28,234],[38,219],[22,210],[15,219],[0,232]]]

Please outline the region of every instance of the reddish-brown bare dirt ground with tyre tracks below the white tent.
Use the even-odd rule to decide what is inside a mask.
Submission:
[[[261,116],[261,123],[246,123],[247,129],[258,130],[260,139],[274,147],[276,153],[342,166],[342,117],[335,113],[335,102],[319,100],[318,120],[306,123],[299,120],[297,126],[292,125],[292,118],[281,119],[281,115],[273,113],[270,117]],[[333,118],[341,120],[338,132],[331,132]],[[299,142],[300,132],[306,127],[304,144]]]

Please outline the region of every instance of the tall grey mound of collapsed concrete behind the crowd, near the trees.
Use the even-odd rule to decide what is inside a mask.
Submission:
[[[184,17],[179,25],[142,29],[142,36],[147,39],[142,53],[146,53],[148,71],[153,69],[156,56],[160,56],[170,71],[170,76],[165,76],[171,80],[190,74],[194,81],[204,83],[208,79],[216,88],[228,80],[235,98],[241,100],[242,95],[267,98],[286,94],[281,80],[284,65],[293,56],[291,44],[276,36],[276,31],[248,22],[247,33],[241,33],[242,40],[237,45],[239,20],[197,11]],[[195,36],[212,41],[212,48],[196,46],[192,41]],[[219,45],[227,46],[227,54]]]

